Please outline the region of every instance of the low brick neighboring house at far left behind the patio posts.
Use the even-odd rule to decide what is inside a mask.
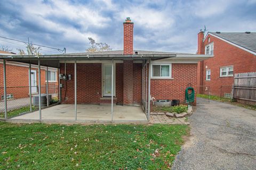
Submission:
[[[0,50],[0,55],[13,55]],[[49,67],[49,94],[55,94],[58,89],[58,69]],[[4,80],[3,80],[3,60],[0,60],[0,96],[4,99]],[[46,67],[41,69],[42,93],[46,92]],[[44,80],[44,81],[43,81]],[[6,61],[6,86],[7,99],[19,99],[29,97],[29,64]],[[31,91],[32,94],[38,93],[38,66],[31,64]]]

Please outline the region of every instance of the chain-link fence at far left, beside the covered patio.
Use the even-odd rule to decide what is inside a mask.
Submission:
[[[46,85],[41,86],[41,95],[46,94]],[[37,110],[37,105],[34,104],[34,97],[38,95],[38,86],[31,87],[32,92],[32,109]],[[51,96],[50,104],[57,103],[59,101],[59,86],[49,85],[48,86],[49,96]],[[4,87],[0,87],[0,118],[4,118]],[[22,113],[30,111],[30,98],[29,98],[29,87],[28,86],[17,86],[17,87],[6,87],[6,98],[7,98],[7,118],[17,116]]]

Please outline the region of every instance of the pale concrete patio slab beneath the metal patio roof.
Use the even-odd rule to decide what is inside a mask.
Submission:
[[[39,112],[28,113],[11,120],[38,120]],[[42,109],[42,120],[75,120],[74,105],[61,104]],[[111,121],[111,106],[77,105],[77,121]],[[141,107],[114,106],[114,121],[145,121],[147,117]]]

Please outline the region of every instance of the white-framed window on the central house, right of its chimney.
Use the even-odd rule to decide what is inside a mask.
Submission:
[[[152,64],[152,78],[171,78],[171,64]]]

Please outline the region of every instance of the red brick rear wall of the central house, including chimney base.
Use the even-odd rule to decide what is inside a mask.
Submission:
[[[61,64],[60,72],[64,72]],[[62,102],[74,104],[74,64],[67,64],[67,74],[72,80],[63,83]],[[77,103],[102,103],[101,64],[77,64]],[[130,76],[128,76],[130,75]],[[173,80],[151,80],[151,96],[156,99],[179,99],[185,101],[185,89],[189,83],[196,90],[197,64],[172,64]],[[125,79],[126,77],[126,79]],[[65,90],[67,87],[65,100]],[[118,104],[141,104],[142,64],[125,61],[116,64],[116,98]]]

